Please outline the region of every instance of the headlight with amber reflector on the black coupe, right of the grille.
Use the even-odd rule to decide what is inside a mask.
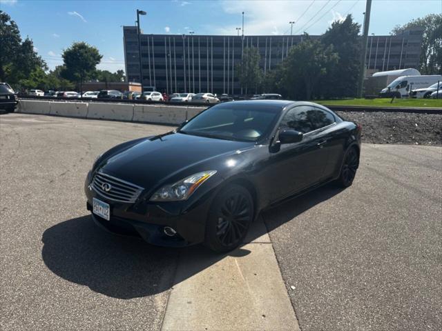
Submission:
[[[181,181],[177,181],[172,185],[164,185],[160,190],[157,190],[151,201],[182,201],[191,196],[197,188],[200,187],[204,181],[216,174],[216,170],[208,170],[193,174]]]

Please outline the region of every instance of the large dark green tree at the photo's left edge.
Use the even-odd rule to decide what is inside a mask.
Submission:
[[[0,80],[15,88],[31,72],[46,70],[46,63],[35,52],[32,40],[21,40],[19,28],[10,16],[0,10]],[[41,74],[41,72],[39,72]]]

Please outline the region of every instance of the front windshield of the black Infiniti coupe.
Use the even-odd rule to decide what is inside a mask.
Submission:
[[[258,141],[269,134],[280,113],[280,108],[263,106],[241,103],[213,106],[184,125],[180,132],[218,139]]]

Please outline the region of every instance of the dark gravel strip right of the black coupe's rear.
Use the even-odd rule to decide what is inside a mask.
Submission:
[[[442,114],[408,112],[336,112],[360,123],[364,143],[442,145]]]

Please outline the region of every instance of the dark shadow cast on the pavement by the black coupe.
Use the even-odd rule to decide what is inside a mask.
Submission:
[[[268,231],[339,192],[326,186],[266,210],[263,215]],[[265,226],[258,226],[256,222],[250,229],[248,241],[265,232]],[[224,257],[244,257],[250,253],[238,248],[228,254],[215,254],[202,245],[182,249],[157,247],[142,239],[109,234],[95,225],[90,215],[53,225],[41,240],[44,243],[41,256],[52,272],[117,299],[164,292]],[[182,268],[184,272],[175,275],[180,254],[186,254],[186,261],[191,262]]]

